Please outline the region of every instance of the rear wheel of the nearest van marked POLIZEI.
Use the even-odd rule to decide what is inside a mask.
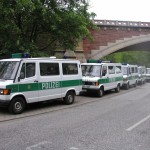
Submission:
[[[67,92],[66,96],[64,97],[64,103],[66,105],[70,105],[74,103],[75,93],[72,91]]]

